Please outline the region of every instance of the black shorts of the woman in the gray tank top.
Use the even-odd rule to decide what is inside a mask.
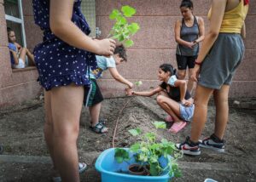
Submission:
[[[187,55],[176,54],[177,69],[186,70],[187,67],[189,67],[189,69],[194,68],[196,58],[197,58],[197,55],[187,56]]]

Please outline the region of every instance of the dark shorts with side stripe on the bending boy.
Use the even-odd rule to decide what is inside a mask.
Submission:
[[[90,79],[90,88],[84,90],[84,106],[90,107],[102,102],[103,96],[96,79]]]

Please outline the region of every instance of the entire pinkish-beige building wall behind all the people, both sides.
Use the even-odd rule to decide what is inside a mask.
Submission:
[[[194,0],[195,14],[207,22],[207,9],[210,0]],[[32,0],[22,0],[25,19],[27,48],[34,48],[42,39],[42,32],[35,26],[32,17]],[[159,84],[157,70],[162,63],[176,66],[173,26],[181,19],[180,0],[96,0],[96,26],[100,27],[102,37],[107,37],[113,22],[108,19],[112,9],[131,5],[137,14],[131,19],[140,24],[141,30],[132,39],[135,45],[128,49],[129,60],[118,66],[119,72],[132,82],[143,81],[140,89],[149,89]],[[251,0],[247,16],[247,40],[245,59],[241,63],[230,89],[230,97],[256,97],[256,1]],[[22,71],[12,70],[3,0],[0,0],[0,108],[15,105],[35,98],[42,90],[36,81],[38,71],[35,67]],[[102,93],[107,97],[123,96],[124,85],[114,82],[108,71],[99,81]]]

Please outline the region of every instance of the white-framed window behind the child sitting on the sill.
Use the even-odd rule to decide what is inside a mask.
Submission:
[[[16,42],[26,47],[26,36],[21,0],[4,0],[6,24],[15,31]]]

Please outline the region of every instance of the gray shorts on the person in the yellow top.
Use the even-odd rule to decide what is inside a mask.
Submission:
[[[219,33],[212,49],[201,65],[198,84],[219,89],[230,85],[245,52],[240,34]]]

